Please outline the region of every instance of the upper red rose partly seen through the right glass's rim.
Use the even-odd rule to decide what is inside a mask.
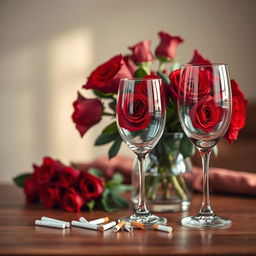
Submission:
[[[194,74],[198,80],[194,80]],[[181,99],[186,95],[186,100],[191,102],[209,95],[212,90],[213,76],[208,70],[199,70],[197,67],[189,66],[182,75],[181,70],[177,69],[169,75],[169,78],[171,99],[174,102],[177,102],[179,90]]]

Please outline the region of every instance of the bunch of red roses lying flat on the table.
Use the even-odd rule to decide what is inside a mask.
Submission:
[[[78,168],[45,157],[40,166],[33,165],[33,173],[19,175],[14,182],[24,188],[28,203],[41,201],[47,208],[79,212],[94,207],[113,211],[127,206],[119,193],[130,186],[122,184],[121,174],[115,173],[107,180],[99,169]]]

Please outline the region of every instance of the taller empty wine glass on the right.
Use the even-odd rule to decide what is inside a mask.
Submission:
[[[231,220],[218,217],[209,196],[209,159],[213,147],[230,124],[232,94],[226,64],[194,65],[181,68],[178,113],[181,126],[199,150],[203,167],[203,202],[196,216],[183,218],[186,227],[222,227]]]

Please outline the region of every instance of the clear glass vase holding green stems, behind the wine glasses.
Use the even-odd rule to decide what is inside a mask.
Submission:
[[[153,212],[188,210],[192,196],[192,164],[181,153],[184,133],[165,133],[146,161],[145,195]],[[138,203],[138,166],[132,171],[132,203]]]

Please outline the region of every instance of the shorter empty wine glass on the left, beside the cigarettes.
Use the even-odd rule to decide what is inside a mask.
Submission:
[[[117,97],[117,126],[139,166],[139,200],[134,214],[121,218],[145,225],[165,224],[149,212],[145,198],[145,158],[159,141],[165,126],[165,92],[161,79],[121,79]]]

